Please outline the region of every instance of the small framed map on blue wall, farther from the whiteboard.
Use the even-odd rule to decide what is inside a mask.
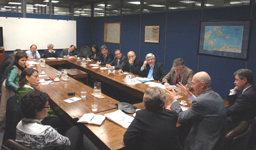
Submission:
[[[160,26],[146,26],[145,25],[145,42],[159,43]]]

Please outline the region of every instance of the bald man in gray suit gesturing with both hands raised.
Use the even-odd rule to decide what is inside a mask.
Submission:
[[[181,110],[173,88],[167,92],[167,98],[173,100],[171,110],[175,110],[180,123],[192,122],[191,130],[184,142],[184,150],[218,150],[226,130],[225,105],[218,93],[211,89],[211,79],[207,72],[198,72],[193,76],[191,87],[195,97],[184,85],[180,84],[181,92],[191,101],[188,110]]]

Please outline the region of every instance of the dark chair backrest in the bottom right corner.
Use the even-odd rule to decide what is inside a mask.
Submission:
[[[229,131],[222,140],[221,150],[244,150],[249,142],[251,126],[242,121],[236,128]]]

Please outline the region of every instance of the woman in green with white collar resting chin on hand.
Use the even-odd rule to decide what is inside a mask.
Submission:
[[[34,68],[26,68],[22,71],[19,78],[19,88],[17,89],[17,102],[20,104],[22,97],[35,89],[40,90],[39,74]]]

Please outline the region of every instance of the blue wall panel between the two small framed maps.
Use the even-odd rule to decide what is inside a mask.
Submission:
[[[141,15],[122,16],[121,20],[121,50],[127,56],[133,50],[139,58],[139,22]]]

